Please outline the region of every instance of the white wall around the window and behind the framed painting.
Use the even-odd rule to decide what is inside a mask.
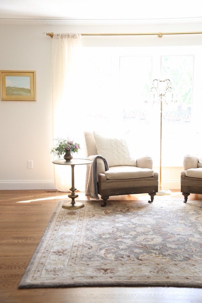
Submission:
[[[0,21],[0,70],[35,70],[36,102],[0,101],[0,189],[55,188],[52,155],[52,39],[43,32],[192,32],[202,25],[55,25]],[[197,45],[202,35],[82,36],[83,46]],[[28,169],[27,161],[34,168]],[[180,188],[181,168],[170,168],[168,188]],[[163,173],[162,173],[163,176]],[[71,177],[71,176],[70,176]],[[162,180],[162,184],[164,185]],[[171,187],[171,186],[172,187]]]

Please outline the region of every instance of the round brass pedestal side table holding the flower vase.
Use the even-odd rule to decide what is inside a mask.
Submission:
[[[77,209],[84,207],[84,204],[81,202],[75,202],[75,198],[78,197],[78,195],[75,194],[76,188],[74,187],[74,167],[75,165],[84,165],[84,164],[91,164],[93,161],[88,159],[77,159],[73,158],[70,161],[66,161],[65,159],[59,159],[52,161],[54,164],[59,165],[71,165],[71,194],[68,195],[69,198],[71,198],[71,202],[65,202],[62,207],[67,209]]]

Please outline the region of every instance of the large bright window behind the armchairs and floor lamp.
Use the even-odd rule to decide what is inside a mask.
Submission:
[[[182,166],[201,148],[201,46],[84,48],[82,95],[86,128],[130,131],[137,153],[159,165],[160,106],[154,79],[171,81],[173,101],[163,105],[162,166]]]

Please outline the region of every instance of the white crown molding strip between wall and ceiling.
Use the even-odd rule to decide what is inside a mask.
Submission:
[[[63,19],[63,18],[0,18],[0,23],[17,24],[106,24],[106,25],[144,25],[144,24],[183,24],[202,23],[202,17],[197,18],[166,18],[166,19]]]

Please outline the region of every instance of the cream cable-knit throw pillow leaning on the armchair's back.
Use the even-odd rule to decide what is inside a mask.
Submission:
[[[136,166],[136,159],[131,156],[126,139],[107,137],[93,132],[98,155],[107,159],[109,167],[131,165]]]

